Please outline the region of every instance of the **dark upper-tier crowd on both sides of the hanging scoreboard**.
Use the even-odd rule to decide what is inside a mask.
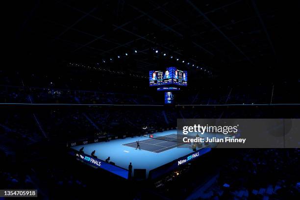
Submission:
[[[222,105],[222,104],[284,104],[299,103],[297,91],[300,85],[239,86],[203,88],[176,95],[177,104]],[[75,103],[75,104],[162,104],[157,94],[125,94],[100,91],[35,88],[0,85],[0,102],[3,103]],[[152,91],[153,92],[153,91]],[[186,94],[188,93],[188,95]],[[151,95],[151,96],[150,96]]]

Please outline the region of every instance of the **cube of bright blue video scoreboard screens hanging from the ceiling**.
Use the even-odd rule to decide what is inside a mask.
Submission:
[[[175,67],[168,67],[165,71],[150,71],[149,85],[175,84],[187,86],[187,71],[177,70]]]

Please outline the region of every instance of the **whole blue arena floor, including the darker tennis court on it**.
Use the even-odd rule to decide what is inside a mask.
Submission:
[[[175,138],[175,134],[176,130],[155,133],[155,135],[168,136],[168,138]],[[136,150],[136,141],[139,141],[141,150]],[[95,155],[99,159],[105,160],[110,157],[110,161],[114,162],[116,166],[125,169],[128,169],[131,162],[132,173],[134,169],[146,169],[147,175],[152,169],[194,152],[191,148],[178,147],[176,142],[150,139],[145,136],[116,139],[110,142],[92,143],[72,148],[79,150],[81,147],[84,147],[84,153],[90,155],[93,150],[96,150]]]

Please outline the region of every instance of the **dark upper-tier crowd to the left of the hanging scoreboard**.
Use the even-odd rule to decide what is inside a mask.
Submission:
[[[150,96],[50,88],[0,86],[1,103],[157,104]]]

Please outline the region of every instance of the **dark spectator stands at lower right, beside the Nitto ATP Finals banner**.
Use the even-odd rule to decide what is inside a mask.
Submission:
[[[215,149],[166,176],[156,191],[170,199],[296,200],[299,155],[299,149]]]

